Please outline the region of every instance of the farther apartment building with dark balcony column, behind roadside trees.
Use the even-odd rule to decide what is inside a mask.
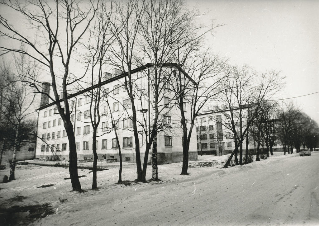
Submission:
[[[243,111],[247,113],[247,109]],[[238,119],[239,113],[234,112],[234,122],[236,130],[239,131]],[[214,110],[202,112],[196,119],[196,132],[197,132],[197,151],[198,154],[206,155],[226,155],[232,153],[235,148],[234,135],[229,128],[229,110],[220,110],[215,107]],[[243,125],[245,126],[243,119]],[[248,151],[249,153],[256,153],[256,142],[252,136],[249,135]],[[264,145],[263,145],[264,146]],[[260,149],[263,149],[263,146]],[[243,141],[243,151],[246,150],[246,139]],[[276,145],[273,151],[282,151],[282,147]]]

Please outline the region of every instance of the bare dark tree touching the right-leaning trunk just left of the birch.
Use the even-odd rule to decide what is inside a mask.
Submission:
[[[135,155],[137,167],[137,180],[143,181],[142,166],[140,157],[140,142],[137,128],[137,108],[135,106],[134,97],[136,90],[134,85],[134,77],[132,76],[132,69],[134,68],[134,54],[137,49],[137,36],[141,18],[144,13],[145,2],[138,0],[129,0],[125,3],[115,2],[114,13],[110,18],[110,33],[116,39],[114,45],[111,46],[110,64],[117,67],[122,74],[125,74],[124,87],[131,101],[133,134],[135,141]]]

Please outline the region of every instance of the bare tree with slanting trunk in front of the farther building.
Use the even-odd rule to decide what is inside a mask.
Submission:
[[[234,155],[236,165],[242,164],[242,145],[249,126],[259,113],[260,104],[279,90],[282,80],[279,72],[269,71],[258,74],[247,65],[242,68],[231,67],[228,70],[229,80],[224,80],[225,83],[221,87],[223,92],[220,95],[220,101],[229,110],[228,120],[223,125],[231,129],[237,143],[235,142],[234,151],[224,167],[228,166]],[[250,108],[250,110],[247,111],[247,108]],[[236,113],[236,117],[234,117],[234,113]],[[239,162],[237,160],[238,148]]]

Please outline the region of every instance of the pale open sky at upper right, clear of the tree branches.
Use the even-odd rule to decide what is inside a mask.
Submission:
[[[209,40],[215,52],[232,64],[260,72],[279,70],[286,86],[279,98],[319,91],[319,1],[193,1],[203,20],[224,26]],[[319,123],[319,93],[293,101]],[[286,100],[289,101],[289,100]]]

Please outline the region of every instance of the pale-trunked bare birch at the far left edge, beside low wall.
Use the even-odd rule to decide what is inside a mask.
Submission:
[[[38,65],[26,55],[15,54],[13,59],[14,69],[7,71],[6,87],[3,87],[5,90],[2,90],[3,96],[1,97],[2,117],[5,119],[7,127],[7,133],[3,134],[6,136],[4,145],[13,149],[9,181],[15,179],[16,157],[21,142],[27,137],[31,137],[32,126],[34,126],[34,121],[31,121],[30,117],[34,113],[36,94],[35,89],[25,82],[25,77],[31,75],[32,78],[29,81],[36,79],[40,70]]]

